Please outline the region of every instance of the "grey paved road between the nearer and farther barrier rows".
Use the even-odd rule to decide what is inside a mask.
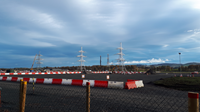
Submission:
[[[53,75],[13,75],[11,77],[34,77],[34,78],[57,78],[57,79],[82,79],[82,74],[53,74]],[[85,79],[91,80],[107,80],[106,75],[110,75],[109,81],[124,81],[127,79],[135,79],[135,80],[143,80],[144,83],[149,83],[155,80],[159,80],[160,78],[174,77],[180,76],[180,74],[154,74],[154,75],[146,75],[146,74],[86,74]],[[182,74],[183,76],[187,76],[187,74]],[[199,74],[195,74],[196,76],[200,76]]]

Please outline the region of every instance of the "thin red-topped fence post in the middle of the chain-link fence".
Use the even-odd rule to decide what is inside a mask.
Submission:
[[[90,112],[90,82],[87,82],[86,85],[86,112]]]

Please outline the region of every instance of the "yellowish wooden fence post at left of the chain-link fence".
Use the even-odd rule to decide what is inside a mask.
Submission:
[[[27,81],[22,82],[22,94],[20,99],[20,112],[25,111],[25,101],[26,101],[26,89],[27,89]]]

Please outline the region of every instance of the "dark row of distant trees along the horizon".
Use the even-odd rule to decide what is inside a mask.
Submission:
[[[80,70],[80,66],[63,66],[63,67],[43,67],[42,69],[67,69],[70,71]],[[93,65],[93,66],[85,66],[86,70],[92,71],[118,71],[121,70],[121,67],[118,65],[111,65],[111,66],[100,66],[100,65]],[[147,71],[152,69],[154,71],[166,71],[166,72],[193,72],[193,71],[200,71],[200,65],[189,65],[189,66],[181,66],[180,67],[170,67],[170,66],[136,66],[136,65],[125,65],[127,71]],[[30,68],[14,68],[15,70],[29,70]],[[0,69],[6,70],[6,69]]]

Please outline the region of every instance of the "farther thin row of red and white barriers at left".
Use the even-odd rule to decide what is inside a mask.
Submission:
[[[79,74],[82,72],[29,72],[29,73],[0,73],[0,75],[46,75],[46,74]]]

